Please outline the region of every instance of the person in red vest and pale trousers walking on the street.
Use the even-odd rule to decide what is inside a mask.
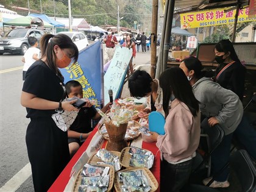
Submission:
[[[104,38],[104,43],[106,44],[104,50],[104,64],[108,61],[112,60],[113,55],[115,53],[115,44],[118,44],[116,37],[112,34],[112,29],[107,29],[107,36]]]

